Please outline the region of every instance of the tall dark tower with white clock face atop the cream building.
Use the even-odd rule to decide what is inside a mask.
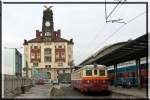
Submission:
[[[42,22],[42,36],[50,37],[54,40],[54,23],[53,23],[53,12],[50,7],[45,6],[45,10],[43,11],[43,22]]]

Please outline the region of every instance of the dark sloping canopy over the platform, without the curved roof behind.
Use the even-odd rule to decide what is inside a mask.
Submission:
[[[115,51],[95,59],[94,62],[102,63],[105,65],[113,65],[147,56],[148,34],[144,34],[141,37],[138,37],[137,39],[132,40],[127,44],[119,47]]]

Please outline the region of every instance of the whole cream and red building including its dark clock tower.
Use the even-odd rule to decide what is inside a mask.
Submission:
[[[53,12],[43,11],[42,31],[36,38],[24,40],[24,62],[27,77],[45,73],[48,79],[58,79],[59,73],[71,73],[73,65],[73,39],[61,37],[61,30],[54,31]]]

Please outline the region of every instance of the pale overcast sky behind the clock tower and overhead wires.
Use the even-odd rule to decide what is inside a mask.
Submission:
[[[104,2],[105,0],[95,1]],[[148,0],[127,1],[143,2]],[[76,65],[104,46],[135,39],[146,32],[146,13],[143,14],[146,11],[146,6],[144,4],[119,5],[109,17],[110,19],[123,19],[123,22],[128,22],[142,13],[141,16],[126,25],[123,23],[106,24],[104,4],[3,4],[2,46],[20,48],[23,46],[24,39],[35,38],[35,31],[41,31],[42,29],[44,5],[53,6],[54,29],[61,29],[62,37],[65,39],[73,38],[73,53]],[[109,14],[115,6],[114,4],[107,5],[107,13]],[[123,27],[115,32],[121,26]],[[106,39],[107,41],[105,41]],[[23,53],[22,49],[19,50]]]

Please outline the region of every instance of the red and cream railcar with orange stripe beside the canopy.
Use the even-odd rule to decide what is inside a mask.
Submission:
[[[87,91],[107,91],[108,77],[107,69],[104,65],[86,65],[72,72],[71,86],[82,92]]]

